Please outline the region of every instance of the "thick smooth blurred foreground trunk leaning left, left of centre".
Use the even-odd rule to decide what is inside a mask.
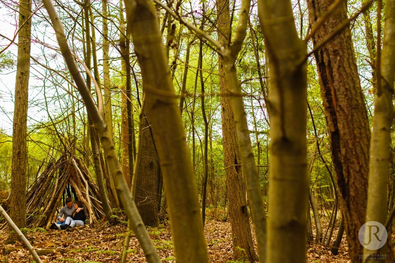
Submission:
[[[194,170],[158,17],[150,0],[125,0],[125,6],[128,30],[141,67],[147,110],[157,139],[175,255],[179,262],[208,262]]]

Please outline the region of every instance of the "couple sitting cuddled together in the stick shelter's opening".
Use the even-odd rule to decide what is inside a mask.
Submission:
[[[73,205],[72,199],[67,197],[66,205],[60,209],[57,219],[59,221],[57,223],[52,222],[52,225],[59,230],[67,229],[75,225],[84,225],[85,214],[82,208],[82,202],[77,201]]]

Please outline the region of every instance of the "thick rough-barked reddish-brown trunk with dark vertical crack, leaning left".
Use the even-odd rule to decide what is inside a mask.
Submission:
[[[308,0],[312,28],[333,2]],[[313,36],[314,45],[347,19],[347,2],[342,1],[327,19]],[[370,130],[350,29],[346,27],[315,56],[350,257],[359,262],[363,251],[358,231],[365,223]]]

